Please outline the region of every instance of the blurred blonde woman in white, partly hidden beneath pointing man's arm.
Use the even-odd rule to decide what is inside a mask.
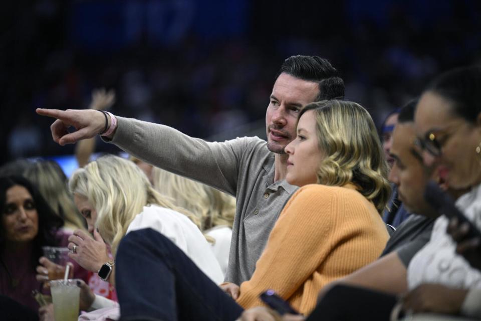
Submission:
[[[199,217],[202,231],[211,238],[212,251],[225,275],[235,215],[235,198],[156,167],[152,169],[152,178],[154,188],[160,194]]]

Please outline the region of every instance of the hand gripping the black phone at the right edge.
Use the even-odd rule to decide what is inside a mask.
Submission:
[[[456,253],[462,255],[472,267],[481,270],[481,239],[479,237],[468,239],[468,230],[467,224],[459,224],[457,218],[452,218],[446,232],[457,243]]]

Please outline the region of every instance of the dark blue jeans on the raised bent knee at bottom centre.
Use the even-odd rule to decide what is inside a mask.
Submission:
[[[115,282],[121,320],[235,320],[243,311],[185,253],[150,228],[120,242]]]

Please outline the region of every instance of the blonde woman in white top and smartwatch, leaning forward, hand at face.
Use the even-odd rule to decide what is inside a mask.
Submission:
[[[110,245],[115,256],[120,240],[127,233],[148,227],[176,244],[212,281],[222,280],[220,267],[198,228],[197,218],[155,191],[133,162],[113,155],[100,157],[77,170],[69,187],[89,232],[94,235],[92,239],[77,230],[69,238],[72,252],[69,256],[84,268],[113,281],[115,263],[108,257],[103,242]],[[109,305],[93,302],[92,295],[85,297],[97,308]]]

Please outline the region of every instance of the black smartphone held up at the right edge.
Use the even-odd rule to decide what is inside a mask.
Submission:
[[[424,190],[424,199],[431,205],[436,211],[448,218],[457,218],[459,225],[466,223],[469,226],[466,238],[473,237],[481,238],[481,232],[479,229],[471,223],[471,221],[464,216],[464,214],[458,210],[454,205],[452,198],[444,193],[439,185],[433,181],[429,181]]]

